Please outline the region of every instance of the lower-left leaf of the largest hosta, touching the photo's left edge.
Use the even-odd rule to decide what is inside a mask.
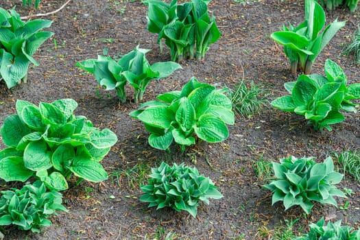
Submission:
[[[0,178],[6,182],[25,182],[33,175],[33,171],[27,169],[22,157],[8,156],[0,160]]]

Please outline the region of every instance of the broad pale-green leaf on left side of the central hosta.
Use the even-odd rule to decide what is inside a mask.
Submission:
[[[154,106],[141,112],[138,119],[157,128],[169,129],[171,122],[175,120],[175,116],[165,106]]]

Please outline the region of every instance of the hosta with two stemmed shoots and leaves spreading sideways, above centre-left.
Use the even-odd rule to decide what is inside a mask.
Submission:
[[[149,51],[138,45],[118,61],[98,56],[97,59],[77,62],[76,66],[93,73],[97,82],[105,86],[106,90],[115,89],[121,102],[126,101],[125,84],[128,82],[134,87],[134,101],[137,103],[143,99],[149,82],[168,77],[177,69],[181,69],[176,62],[156,62],[150,65],[145,58]]]

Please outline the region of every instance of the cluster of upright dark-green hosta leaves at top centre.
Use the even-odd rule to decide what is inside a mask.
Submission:
[[[221,33],[215,16],[209,16],[205,0],[191,0],[178,4],[177,0],[165,3],[158,0],[144,1],[148,5],[147,29],[158,34],[158,43],[165,39],[170,48],[171,60],[183,58],[204,59],[208,47],[215,43]]]

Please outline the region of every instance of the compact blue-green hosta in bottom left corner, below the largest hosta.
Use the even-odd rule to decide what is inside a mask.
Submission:
[[[57,191],[47,191],[40,181],[26,184],[22,189],[0,192],[0,226],[16,225],[20,230],[40,232],[40,228],[51,226],[48,219],[65,211],[62,195]]]

